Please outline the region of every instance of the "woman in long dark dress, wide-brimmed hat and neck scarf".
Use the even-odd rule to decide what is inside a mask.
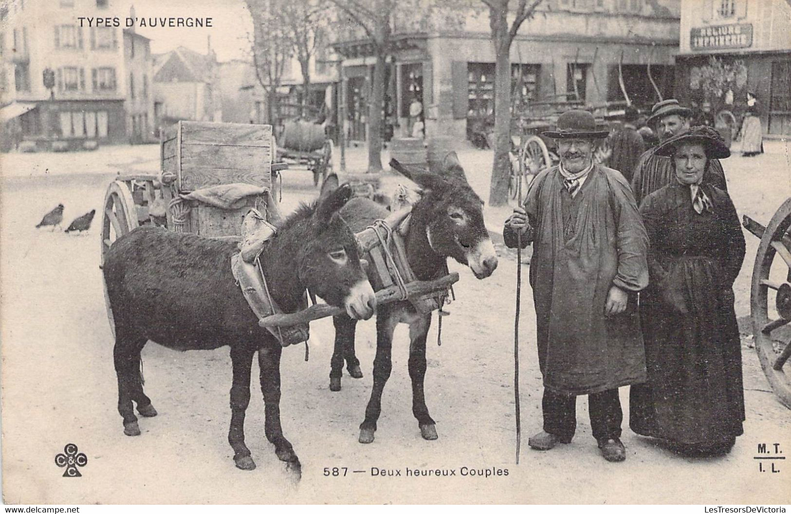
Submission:
[[[640,300],[648,381],[631,387],[630,428],[690,455],[729,452],[744,421],[732,289],[744,235],[731,198],[702,178],[730,150],[716,130],[693,127],[657,155],[672,157],[676,181],[640,206],[650,244]]]

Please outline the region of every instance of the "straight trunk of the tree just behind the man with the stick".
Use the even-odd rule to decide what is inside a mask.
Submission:
[[[489,190],[489,205],[508,203],[508,183],[511,162],[511,40],[505,9],[490,12],[494,48],[497,53],[494,71],[494,163]]]

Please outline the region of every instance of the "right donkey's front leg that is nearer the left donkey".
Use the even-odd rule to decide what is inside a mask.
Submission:
[[[377,431],[377,421],[382,410],[382,391],[392,370],[392,338],[398,319],[392,312],[380,311],[377,314],[377,356],[373,359],[373,389],[368,406],[365,407],[365,421],[360,424],[359,441],[373,443],[373,433]]]

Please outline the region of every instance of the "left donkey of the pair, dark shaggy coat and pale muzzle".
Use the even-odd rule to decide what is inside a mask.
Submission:
[[[284,312],[300,305],[305,289],[328,304],[346,308],[350,319],[368,319],[376,297],[362,269],[357,240],[338,210],[350,198],[343,187],[301,206],[261,254],[271,297]],[[278,458],[300,471],[299,459],[280,426],[281,345],[249,308],[231,272],[237,244],[165,229],[142,227],[119,238],[108,251],[104,280],[115,321],[118,411],[127,436],[140,434],[138,413],[157,415],[143,393],[140,352],[150,339],[174,350],[230,346],[233,364],[231,425],[233,460],[255,469],[244,444],[244,414],[250,401],[250,368],[258,350],[265,404],[264,433]]]

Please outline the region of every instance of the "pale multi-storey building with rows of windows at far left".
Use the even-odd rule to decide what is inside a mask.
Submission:
[[[8,2],[0,16],[2,122],[6,149],[20,141],[47,148],[53,141],[81,146],[130,142],[150,130],[153,101],[131,96],[131,81],[150,77],[148,40],[114,26],[82,26],[78,17],[107,17],[112,0]],[[127,44],[138,45],[130,59]],[[51,70],[51,88],[44,85]],[[132,78],[134,77],[134,79]]]

